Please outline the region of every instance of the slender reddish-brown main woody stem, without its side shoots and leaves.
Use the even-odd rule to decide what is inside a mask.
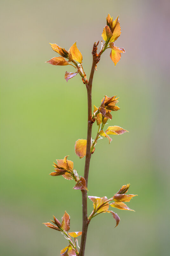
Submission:
[[[98,42],[99,43],[99,42]],[[93,55],[93,62],[92,62],[92,69],[90,73],[90,78],[88,84],[86,84],[87,88],[87,100],[88,100],[88,126],[87,126],[87,146],[86,146],[86,155],[85,155],[85,172],[84,178],[86,181],[86,186],[88,183],[88,175],[89,175],[89,166],[90,166],[90,159],[91,159],[91,137],[92,137],[92,81],[95,71],[95,66],[97,63],[97,45],[98,43],[94,43],[92,55]],[[85,243],[87,237],[87,229],[89,225],[89,220],[87,216],[87,191],[81,190],[82,192],[82,204],[83,204],[83,226],[82,226],[82,236],[81,236],[81,244],[80,244],[80,251],[79,256],[84,256],[85,254]]]

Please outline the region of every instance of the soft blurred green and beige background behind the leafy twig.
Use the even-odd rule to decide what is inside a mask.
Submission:
[[[126,54],[114,67],[106,51],[95,72],[92,104],[119,97],[109,125],[127,130],[100,140],[92,155],[88,195],[111,197],[131,183],[138,194],[128,206],[94,218],[85,255],[169,256],[169,0],[1,2],[1,207],[0,255],[55,256],[68,242],[46,228],[66,210],[71,231],[81,230],[81,192],[74,181],[51,177],[52,163],[70,155],[79,175],[85,159],[74,152],[86,138],[86,89],[71,67],[44,63],[56,55],[50,43],[77,42],[89,76],[92,45],[101,40],[108,13],[120,15],[116,45]],[[93,126],[93,137],[97,126]],[[88,200],[89,214],[92,202]]]

